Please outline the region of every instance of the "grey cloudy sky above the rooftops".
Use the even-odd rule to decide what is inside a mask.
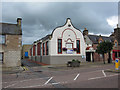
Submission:
[[[117,2],[3,2],[2,22],[16,23],[22,17],[23,44],[50,34],[67,18],[91,34],[110,35],[118,23]],[[0,21],[1,22],[1,21]]]

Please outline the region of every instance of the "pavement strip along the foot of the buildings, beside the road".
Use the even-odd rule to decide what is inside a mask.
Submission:
[[[82,69],[82,68],[88,68],[88,67],[99,67],[99,66],[106,66],[106,65],[114,65],[114,61],[112,63],[107,63],[103,64],[103,62],[82,62],[80,63],[80,67],[67,67],[66,64],[58,64],[58,65],[45,65],[45,64],[41,64],[41,63],[34,63],[31,60],[22,60],[21,61],[22,64],[24,64],[24,66],[20,66],[20,67],[8,67],[8,68],[4,68],[2,67],[2,73],[6,73],[6,74],[12,74],[12,73],[20,73],[23,71],[29,71],[27,67],[33,67],[34,70],[36,71],[40,71],[40,70],[44,70],[44,71],[48,71],[48,70],[55,70],[55,71],[60,71],[60,70],[73,70],[73,69]],[[114,66],[113,66],[114,67]],[[107,72],[117,72],[119,73],[119,70],[115,70],[113,69],[109,69],[106,70]]]

